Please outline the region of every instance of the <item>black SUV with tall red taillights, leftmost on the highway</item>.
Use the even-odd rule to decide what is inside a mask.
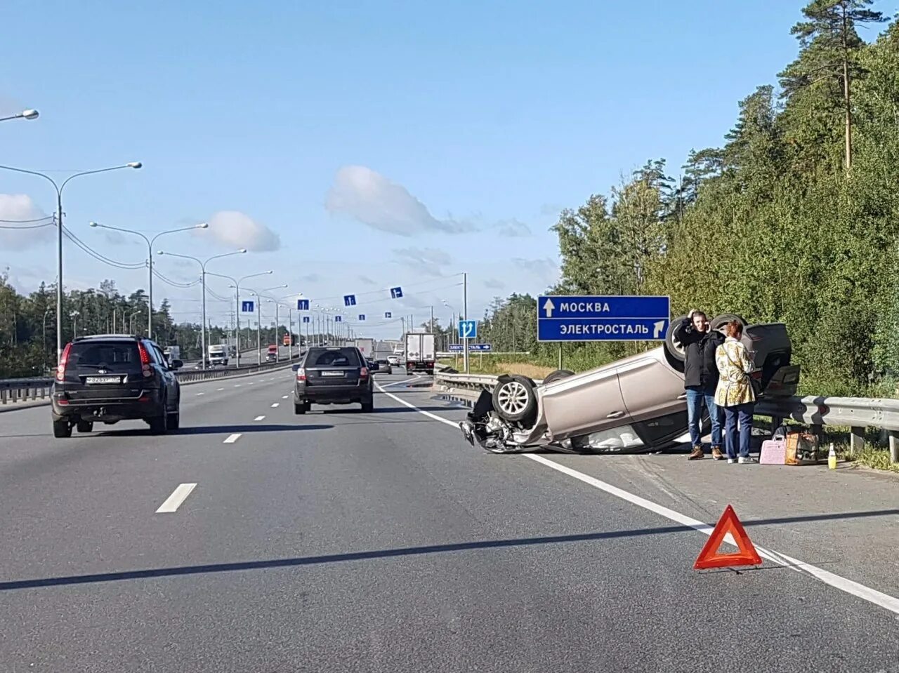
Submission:
[[[71,437],[72,427],[90,432],[93,421],[147,421],[162,434],[180,425],[181,386],[163,351],[149,339],[97,334],[67,344],[50,400],[53,436]]]

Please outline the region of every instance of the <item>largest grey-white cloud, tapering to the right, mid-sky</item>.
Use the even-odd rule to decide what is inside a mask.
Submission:
[[[325,208],[335,215],[355,217],[380,231],[411,236],[429,231],[456,233],[473,226],[437,219],[401,184],[365,166],[343,166],[328,190]]]

